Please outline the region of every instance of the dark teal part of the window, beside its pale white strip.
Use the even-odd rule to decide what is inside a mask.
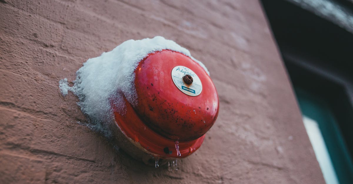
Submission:
[[[352,158],[330,106],[325,99],[298,87],[295,88],[295,94],[302,114],[319,125],[339,183],[352,183]]]

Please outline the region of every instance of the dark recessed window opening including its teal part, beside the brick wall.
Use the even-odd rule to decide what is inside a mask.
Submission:
[[[330,2],[353,7],[349,1]],[[262,4],[302,114],[317,122],[338,182],[351,183],[353,33],[292,0]]]

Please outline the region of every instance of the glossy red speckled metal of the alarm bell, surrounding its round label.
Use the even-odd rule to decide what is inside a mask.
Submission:
[[[188,96],[175,86],[171,77],[175,66],[190,68],[199,76],[201,94]],[[135,74],[137,106],[132,107],[125,99],[126,114],[114,111],[120,130],[160,158],[183,158],[195,152],[219,111],[218,95],[209,75],[190,57],[170,50],[149,54]],[[177,156],[175,141],[179,141],[181,157]]]

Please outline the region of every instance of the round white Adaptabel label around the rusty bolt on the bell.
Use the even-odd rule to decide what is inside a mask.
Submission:
[[[193,82],[189,85],[183,80],[183,76],[190,75]],[[179,90],[189,96],[198,96],[202,91],[201,80],[195,72],[185,66],[176,66],[172,69],[172,79]]]

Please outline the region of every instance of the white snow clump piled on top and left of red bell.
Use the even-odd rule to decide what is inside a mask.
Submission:
[[[178,51],[191,57],[209,74],[202,62],[193,58],[189,50],[181,47],[172,40],[156,36],[152,39],[130,39],[118,45],[112,51],[104,52],[101,56],[88,59],[76,72],[73,86],[69,86],[67,79],[59,81],[60,92],[63,96],[71,91],[79,102],[81,111],[87,115],[89,128],[110,135],[106,129],[107,123],[113,119],[110,103],[116,104],[120,114],[124,114],[125,103],[121,91],[128,102],[136,105],[136,89],[134,87],[135,74],[138,63],[148,54],[164,49]],[[80,123],[82,124],[82,123]]]

